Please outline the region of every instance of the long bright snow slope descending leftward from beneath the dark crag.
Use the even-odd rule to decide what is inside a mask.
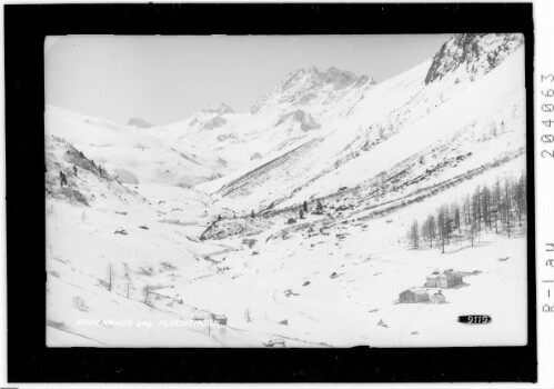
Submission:
[[[279,157],[199,188],[214,192],[222,207],[248,211],[364,184],[407,158],[431,157],[419,163],[431,170],[454,154],[471,169],[517,154],[525,146],[523,64],[523,50],[515,49],[479,82],[425,86],[425,62],[369,89],[350,110],[350,101],[335,104],[336,114],[328,113],[316,134]]]

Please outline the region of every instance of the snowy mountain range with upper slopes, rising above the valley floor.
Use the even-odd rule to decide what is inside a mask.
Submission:
[[[298,69],[250,112],[222,103],[168,126],[49,108],[47,133],[133,183],[200,184],[229,208],[289,206],[342,187],[371,191],[392,172],[402,172],[395,187],[405,190],[422,171],[434,176],[417,187],[521,154],[522,47],[520,34],[455,34],[433,58],[379,83],[336,68]]]

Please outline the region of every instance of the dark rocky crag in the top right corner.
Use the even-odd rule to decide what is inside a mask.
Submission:
[[[453,74],[455,82],[474,81],[501,64],[523,44],[520,33],[457,33],[433,57],[425,84]]]

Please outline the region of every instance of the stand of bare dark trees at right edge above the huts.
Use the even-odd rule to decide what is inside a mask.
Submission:
[[[473,246],[482,231],[505,233],[510,238],[526,223],[526,188],[525,172],[518,178],[498,178],[492,188],[477,186],[461,203],[443,203],[423,222],[414,220],[407,232],[410,242],[414,248],[435,245],[444,252],[452,241],[467,240]]]

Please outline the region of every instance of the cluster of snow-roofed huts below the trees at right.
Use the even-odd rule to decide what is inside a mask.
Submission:
[[[427,276],[425,285],[423,288],[410,288],[404,290],[399,295],[399,302],[426,302],[431,301],[433,303],[446,302],[446,298],[442,293],[442,290],[430,296],[429,289],[425,288],[454,288],[463,283],[463,277],[454,271],[453,269],[447,269],[444,271],[433,271]]]

